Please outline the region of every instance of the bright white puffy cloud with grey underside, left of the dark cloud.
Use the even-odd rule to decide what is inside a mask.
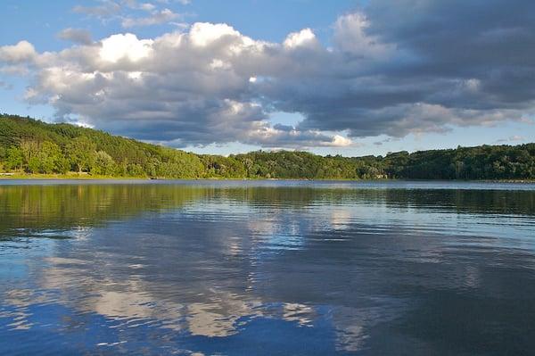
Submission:
[[[289,60],[284,46],[210,23],[154,39],[112,35],[97,45],[42,54],[27,100],[50,103],[60,117],[78,115],[97,128],[173,145],[350,145],[348,138],[317,130],[269,125],[249,87],[266,83],[266,74]]]

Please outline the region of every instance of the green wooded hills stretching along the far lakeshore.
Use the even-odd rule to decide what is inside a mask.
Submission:
[[[66,123],[0,115],[0,172],[118,178],[535,179],[535,143],[385,156],[186,153]]]

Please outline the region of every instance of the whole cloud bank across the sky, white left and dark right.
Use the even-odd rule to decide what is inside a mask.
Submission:
[[[34,72],[27,100],[60,120],[177,146],[342,146],[532,120],[534,24],[530,2],[374,0],[334,21],[329,47],[312,29],[270,43],[195,23],[59,53],[21,42],[0,61]],[[274,126],[270,112],[304,120]]]

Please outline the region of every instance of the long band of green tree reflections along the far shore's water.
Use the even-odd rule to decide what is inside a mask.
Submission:
[[[261,210],[309,209],[343,203],[458,212],[535,214],[535,191],[346,189],[321,187],[217,187],[202,185],[1,186],[0,231],[5,228],[71,228],[144,211],[176,209],[198,201],[247,204]]]

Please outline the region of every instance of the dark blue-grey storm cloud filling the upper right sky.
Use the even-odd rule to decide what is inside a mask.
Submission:
[[[535,3],[372,0],[335,30],[339,76],[265,88],[300,128],[401,137],[533,113]]]

